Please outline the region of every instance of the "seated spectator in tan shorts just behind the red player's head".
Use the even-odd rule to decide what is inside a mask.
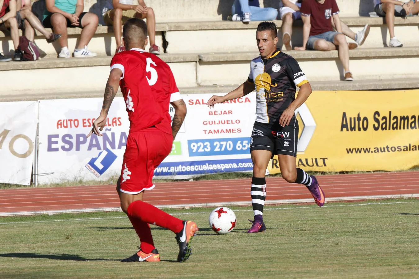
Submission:
[[[156,20],[153,8],[147,7],[144,0],[138,0],[139,5],[134,5],[134,0],[113,0],[113,9],[103,15],[106,25],[114,26],[116,53],[124,51],[122,46],[122,25],[130,18],[147,19],[147,33],[150,38],[150,53],[159,55],[160,48],[155,44]]]

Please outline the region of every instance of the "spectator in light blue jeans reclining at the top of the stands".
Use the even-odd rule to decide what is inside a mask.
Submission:
[[[277,9],[259,7],[259,0],[234,0],[231,13],[231,20],[245,24],[251,21],[275,20],[278,16]]]

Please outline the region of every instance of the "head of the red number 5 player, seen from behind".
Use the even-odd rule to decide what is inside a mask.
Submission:
[[[147,38],[147,24],[140,18],[130,18],[124,24],[124,41],[127,45],[127,50],[133,47],[145,46],[145,39]]]

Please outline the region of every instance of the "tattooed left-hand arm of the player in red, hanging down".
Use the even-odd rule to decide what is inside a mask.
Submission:
[[[115,68],[111,70],[108,82],[106,82],[105,94],[103,95],[103,105],[101,114],[93,122],[93,128],[87,135],[87,137],[89,137],[92,133],[95,133],[98,136],[102,136],[100,131],[102,131],[103,127],[105,127],[106,125],[106,117],[108,116],[109,108],[111,107],[111,103],[114,100],[116,92],[118,91],[119,79],[121,77],[122,71],[120,69]]]

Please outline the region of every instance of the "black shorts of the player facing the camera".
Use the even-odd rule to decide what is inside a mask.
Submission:
[[[298,120],[291,118],[290,124],[282,127],[279,123],[255,122],[252,130],[250,151],[269,150],[274,155],[291,155],[297,157]]]

